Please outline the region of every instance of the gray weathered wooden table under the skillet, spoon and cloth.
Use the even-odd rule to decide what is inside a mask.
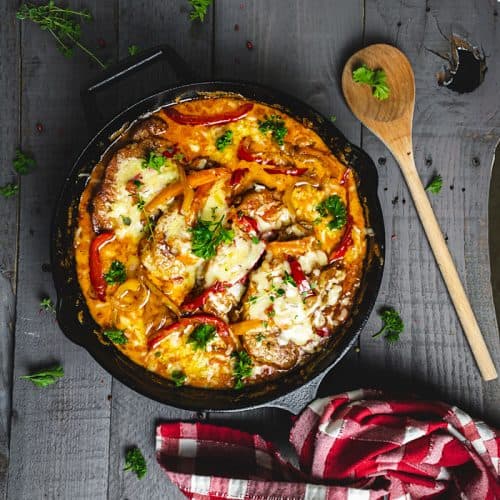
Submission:
[[[80,6],[79,1],[70,1]],[[500,135],[500,27],[495,0],[216,0],[203,24],[188,20],[183,0],[86,0],[95,20],[84,39],[116,61],[127,47],[167,43],[200,79],[248,79],[288,91],[325,115],[379,164],[387,250],[378,307],[401,311],[406,331],[388,345],[371,339],[372,314],[359,352],[351,352],[320,392],[381,386],[457,404],[500,426],[500,384],[483,383],[444,289],[403,179],[385,148],[353,118],[339,90],[348,55],[389,42],[410,58],[416,76],[414,143],[424,182],[444,179],[432,204],[487,343],[500,367],[500,343],[490,287],[488,189]],[[12,181],[11,160],[21,146],[38,168],[20,180],[17,197],[0,199],[0,498],[180,498],[154,461],[154,428],[164,419],[224,422],[286,442],[283,410],[193,414],[150,401],[113,380],[69,342],[50,314],[39,312],[54,294],[49,228],[54,204],[78,151],[90,136],[79,101],[96,67],[81,55],[65,59],[47,33],[15,20],[18,0],[0,2],[0,185]],[[435,74],[446,51],[442,33],[468,35],[489,66],[484,84],[458,95]],[[247,49],[246,42],[254,45]],[[101,45],[103,45],[101,41]],[[133,84],[149,93],[173,82],[154,71]],[[138,96],[137,95],[137,96]],[[109,112],[134,97],[117,89]],[[43,130],[39,131],[37,124]],[[19,376],[50,362],[66,375],[37,389]],[[138,445],[147,479],[124,473],[124,449]]]

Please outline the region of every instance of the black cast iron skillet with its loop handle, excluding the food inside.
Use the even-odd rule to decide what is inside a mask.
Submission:
[[[192,78],[185,63],[169,47],[150,49],[128,58],[105,71],[99,79],[82,91],[85,110],[91,123],[101,118],[95,102],[97,91],[159,58],[166,59],[181,78]],[[356,171],[367,226],[373,229],[373,233],[368,237],[366,267],[357,301],[342,330],[304,366],[286,373],[279,379],[249,386],[241,391],[176,388],[168,380],[134,364],[113,345],[103,344],[94,333],[99,327],[90,316],[78,284],[73,253],[73,237],[78,224],[78,203],[86,184],[85,174],[91,172],[112,143],[111,134],[125,123],[131,123],[160,106],[172,104],[179,99],[193,99],[207,92],[240,94],[275,106],[309,124],[331,150]],[[377,198],[377,183],[376,168],[363,151],[349,144],[330,120],[283,92],[253,83],[213,81],[180,85],[147,97],[115,116],[97,132],[66,178],[57,204],[51,238],[59,326],[70,340],[84,347],[111,375],[140,394],[161,403],[196,411],[231,411],[267,404],[298,413],[315,397],[323,377],[355,343],[377,297],[384,258],[384,224]]]

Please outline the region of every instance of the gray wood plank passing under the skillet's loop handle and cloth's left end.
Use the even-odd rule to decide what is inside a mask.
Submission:
[[[200,24],[189,21],[186,5],[179,2],[121,0],[120,57],[127,55],[127,48],[132,44],[146,49],[166,43],[185,58],[198,78],[210,78],[213,9],[210,9],[205,22]],[[119,96],[120,106],[139,96],[172,86],[174,82],[175,75],[170,68],[155,64],[152,69],[128,81],[126,87],[123,86],[125,91],[121,91]],[[113,380],[112,395],[108,498],[183,498],[156,463],[155,426],[165,420],[193,420],[196,414],[151,401],[116,380]],[[146,457],[148,475],[145,480],[138,481],[133,474],[123,471],[125,451],[130,446],[139,446]]]

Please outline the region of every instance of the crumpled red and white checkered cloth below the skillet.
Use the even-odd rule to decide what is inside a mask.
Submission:
[[[301,470],[258,435],[157,427],[157,459],[193,499],[500,499],[500,432],[440,402],[358,390],[313,401],[290,442]]]

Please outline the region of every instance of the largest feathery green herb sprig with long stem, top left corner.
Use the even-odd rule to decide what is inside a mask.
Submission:
[[[40,26],[40,29],[48,31],[56,40],[59,50],[66,56],[71,57],[75,47],[79,48],[101,68],[106,65],[87,47],[80,42],[81,22],[92,21],[92,15],[88,10],[72,10],[59,7],[54,0],[49,0],[44,5],[25,3],[19,7],[16,17],[21,21],[32,21]]]

